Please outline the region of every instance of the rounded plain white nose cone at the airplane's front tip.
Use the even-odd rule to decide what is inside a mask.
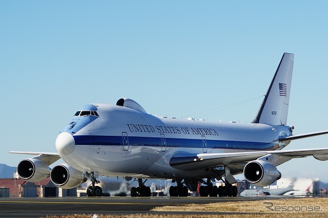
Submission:
[[[59,155],[69,155],[75,148],[75,140],[68,132],[60,133],[56,139],[56,149]]]

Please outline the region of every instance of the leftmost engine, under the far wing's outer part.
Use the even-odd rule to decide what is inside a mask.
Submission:
[[[29,158],[18,163],[18,176],[28,182],[38,182],[50,175],[50,167],[43,161]]]

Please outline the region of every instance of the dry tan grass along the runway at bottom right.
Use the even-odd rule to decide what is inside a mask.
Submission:
[[[216,217],[328,217],[328,198],[292,198],[268,199],[260,201],[241,201],[227,203],[212,203],[203,205],[163,206],[152,209],[152,212],[161,211],[188,211],[188,214],[128,214],[128,215],[101,215],[98,218],[216,218]],[[199,212],[224,212],[224,214],[199,214]],[[192,214],[198,212],[198,214]],[[47,218],[92,218],[93,214],[47,216]]]

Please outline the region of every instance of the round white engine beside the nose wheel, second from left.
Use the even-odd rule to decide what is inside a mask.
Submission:
[[[83,172],[66,163],[54,166],[50,172],[50,179],[57,187],[66,189],[74,188],[88,180]]]

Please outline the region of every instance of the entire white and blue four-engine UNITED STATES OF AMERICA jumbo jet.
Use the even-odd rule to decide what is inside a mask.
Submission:
[[[291,141],[328,131],[293,135],[287,126],[294,54],[284,53],[263,102],[251,123],[158,117],[131,99],[114,104],[88,104],[74,114],[56,138],[58,153],[35,155],[17,165],[20,178],[47,177],[61,188],[90,179],[87,195],[99,197],[99,176],[138,181],[131,197],[149,197],[147,179],[172,179],[170,196],[185,197],[199,187],[200,196],[237,196],[234,175],[243,173],[256,186],[281,178],[277,166],[293,158],[328,160],[328,148],[283,150]],[[58,159],[64,164],[49,167]],[[224,186],[212,182],[222,180]],[[201,186],[198,186],[202,184]]]

